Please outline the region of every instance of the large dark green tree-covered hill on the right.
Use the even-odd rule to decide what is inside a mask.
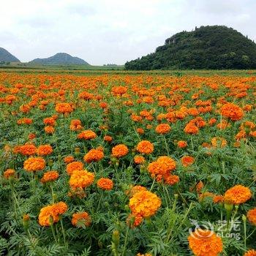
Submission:
[[[226,26],[201,26],[165,40],[154,53],[127,61],[125,69],[255,69],[256,44]]]

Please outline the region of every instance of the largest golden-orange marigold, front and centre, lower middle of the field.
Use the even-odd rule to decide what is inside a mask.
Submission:
[[[130,198],[129,208],[132,214],[148,218],[157,212],[161,203],[161,199],[156,194],[149,191],[140,191]]]

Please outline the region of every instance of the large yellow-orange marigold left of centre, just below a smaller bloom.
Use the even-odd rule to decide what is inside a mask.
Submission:
[[[87,170],[73,170],[70,178],[69,185],[72,189],[86,188],[94,182],[94,173],[89,173]]]

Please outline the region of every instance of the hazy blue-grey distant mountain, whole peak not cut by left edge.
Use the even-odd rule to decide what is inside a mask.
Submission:
[[[67,53],[56,53],[54,56],[45,59],[34,59],[29,61],[32,64],[46,64],[46,65],[89,65],[83,59],[73,57]]]

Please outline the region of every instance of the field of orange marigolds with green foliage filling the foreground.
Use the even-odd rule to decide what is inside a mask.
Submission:
[[[255,256],[255,98],[253,72],[1,72],[0,255]]]

